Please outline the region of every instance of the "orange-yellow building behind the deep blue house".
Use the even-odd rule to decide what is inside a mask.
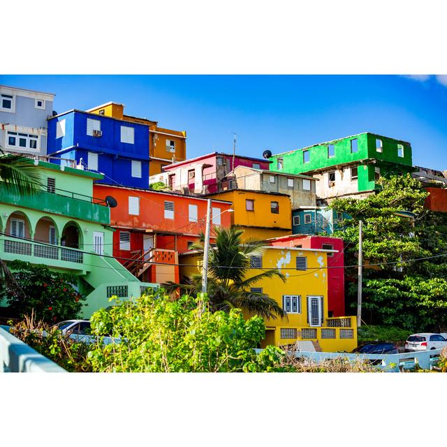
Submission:
[[[120,103],[98,105],[87,112],[148,126],[149,176],[161,173],[163,166],[186,160],[186,131],[164,129],[156,121],[124,115],[124,104]]]

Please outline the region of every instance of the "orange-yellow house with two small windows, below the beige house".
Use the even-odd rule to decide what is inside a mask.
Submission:
[[[231,189],[207,197],[233,203],[231,224],[244,230],[244,240],[292,234],[291,198],[287,194]]]

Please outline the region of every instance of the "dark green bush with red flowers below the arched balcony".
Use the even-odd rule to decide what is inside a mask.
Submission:
[[[38,320],[46,323],[78,316],[84,298],[73,288],[75,276],[22,261],[13,261],[8,267],[13,270],[16,284],[1,281],[0,294],[14,316],[22,318],[34,312]]]

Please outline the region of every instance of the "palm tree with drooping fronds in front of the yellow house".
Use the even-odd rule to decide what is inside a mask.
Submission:
[[[265,293],[254,293],[250,287],[261,279],[279,278],[285,281],[284,274],[277,269],[270,269],[246,279],[250,270],[250,256],[263,253],[264,244],[258,240],[242,243],[243,230],[232,227],[215,229],[216,247],[210,250],[208,260],[207,293],[210,310],[228,312],[237,307],[250,314],[263,318],[286,318],[284,309]],[[191,250],[197,250],[203,259],[203,244],[192,244]],[[176,288],[186,293],[201,291],[202,275],[193,274],[186,279],[186,284],[169,282],[164,284],[168,291]]]

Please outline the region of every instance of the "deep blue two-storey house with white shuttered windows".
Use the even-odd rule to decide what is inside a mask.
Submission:
[[[48,119],[48,154],[104,175],[101,183],[149,187],[145,124],[70,110]]]

